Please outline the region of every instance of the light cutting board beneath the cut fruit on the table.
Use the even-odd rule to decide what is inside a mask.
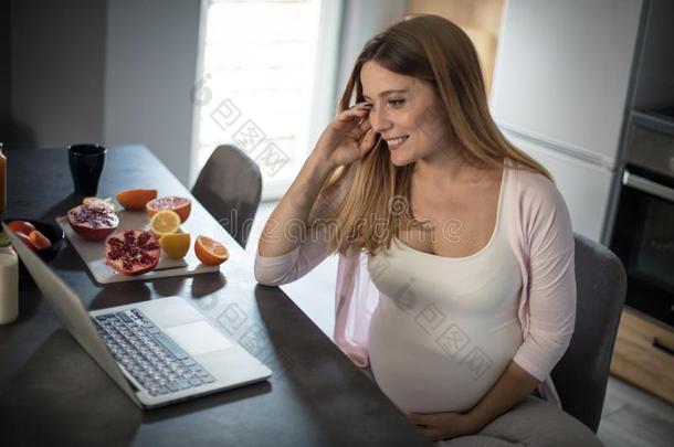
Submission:
[[[149,230],[150,219],[145,211],[120,211],[117,215],[119,216],[119,226],[115,232],[123,230]],[[65,232],[65,236],[71,245],[75,247],[75,251],[80,254],[82,260],[84,260],[86,267],[99,284],[188,276],[218,272],[220,269],[220,266],[206,266],[197,259],[193,249],[197,237],[202,234],[210,237],[214,237],[214,235],[204,233],[203,228],[191,227],[189,219],[181,225],[182,231],[190,233],[192,237],[191,247],[187,256],[183,259],[176,260],[166,257],[162,253],[159,265],[155,269],[137,276],[120,275],[105,264],[105,241],[83,240],[73,228],[71,228],[67,217],[65,216],[56,217],[56,223]],[[221,227],[219,226],[218,230],[221,230]],[[218,240],[218,237],[215,237],[215,240]]]

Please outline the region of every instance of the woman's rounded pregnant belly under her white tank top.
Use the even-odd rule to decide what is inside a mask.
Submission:
[[[372,373],[381,391],[406,413],[471,409],[522,344],[517,319],[496,328],[445,321],[431,329],[402,312],[385,317],[379,310],[370,322]]]

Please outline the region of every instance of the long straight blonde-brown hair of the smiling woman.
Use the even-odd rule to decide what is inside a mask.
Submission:
[[[440,98],[441,116],[460,158],[478,169],[509,167],[544,174],[548,171],[514,147],[489,115],[477,53],[468,36],[454,23],[436,15],[415,15],[391,25],[366,43],[341,95],[339,110],[365,100],[360,71],[373,61],[385,68],[429,83]],[[355,98],[354,98],[355,96]],[[320,189],[319,198],[335,192],[350,172],[347,191],[329,216],[338,231],[329,234],[331,252],[345,254],[351,246],[377,254],[389,247],[402,223],[413,223],[409,207],[413,163],[391,163],[386,142],[362,159],[337,168]],[[340,187],[340,188],[343,188]],[[313,225],[324,223],[313,222]]]

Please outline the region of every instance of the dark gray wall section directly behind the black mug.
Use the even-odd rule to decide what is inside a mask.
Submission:
[[[103,138],[104,0],[11,2],[14,146]]]

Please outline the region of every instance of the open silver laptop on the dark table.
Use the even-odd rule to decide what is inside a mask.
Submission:
[[[139,407],[271,377],[268,368],[180,297],[87,312],[77,294],[4,223],[2,230],[65,328]]]

